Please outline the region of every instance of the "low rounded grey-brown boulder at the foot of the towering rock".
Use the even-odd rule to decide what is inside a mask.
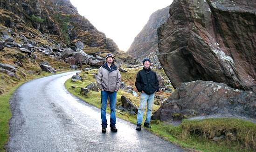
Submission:
[[[213,114],[256,119],[256,93],[212,81],[182,83],[152,119],[166,121]]]

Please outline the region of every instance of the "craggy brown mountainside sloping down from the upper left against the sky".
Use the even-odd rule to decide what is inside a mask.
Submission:
[[[79,15],[69,0],[0,0],[0,24],[15,32],[31,32],[25,26],[38,29],[55,35],[54,39],[66,46],[81,40],[87,47],[119,50],[113,40]]]

